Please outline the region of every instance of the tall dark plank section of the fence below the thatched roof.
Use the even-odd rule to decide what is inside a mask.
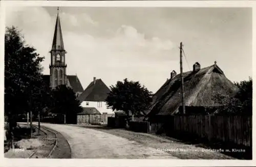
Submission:
[[[176,132],[195,134],[208,141],[218,140],[251,146],[252,117],[248,116],[175,116]]]

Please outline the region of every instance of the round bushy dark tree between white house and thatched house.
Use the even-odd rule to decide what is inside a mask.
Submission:
[[[112,110],[123,110],[127,117],[140,115],[152,102],[152,92],[148,91],[140,83],[128,81],[127,78],[117,81],[115,86],[111,86],[111,91],[106,98],[106,104]]]

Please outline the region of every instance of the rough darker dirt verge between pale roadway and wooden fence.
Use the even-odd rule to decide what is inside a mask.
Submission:
[[[112,129],[97,125],[71,125],[84,128],[91,128],[105,133],[110,133],[130,141],[138,142],[144,147],[151,147],[163,150],[179,159],[236,159],[223,154],[218,150],[212,150],[199,144],[186,144],[167,136],[156,136],[153,134],[139,133],[126,129]],[[210,149],[210,150],[209,150]],[[242,154],[242,153],[241,153]]]

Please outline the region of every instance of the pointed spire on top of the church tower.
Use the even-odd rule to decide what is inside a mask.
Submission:
[[[63,39],[62,39],[62,33],[61,33],[61,27],[60,27],[60,19],[59,19],[59,7],[57,8],[58,14],[55,24],[55,30],[54,30],[54,36],[53,36],[53,42],[52,42],[52,50],[65,50]]]

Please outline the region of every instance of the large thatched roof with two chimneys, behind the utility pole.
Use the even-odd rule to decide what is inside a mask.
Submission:
[[[223,71],[214,65],[202,68],[196,62],[193,71],[183,73],[185,106],[218,106],[217,93],[233,96],[237,87],[226,78]],[[173,115],[178,113],[181,103],[181,78],[175,71],[170,79],[154,94],[153,102],[147,111],[148,116]]]

